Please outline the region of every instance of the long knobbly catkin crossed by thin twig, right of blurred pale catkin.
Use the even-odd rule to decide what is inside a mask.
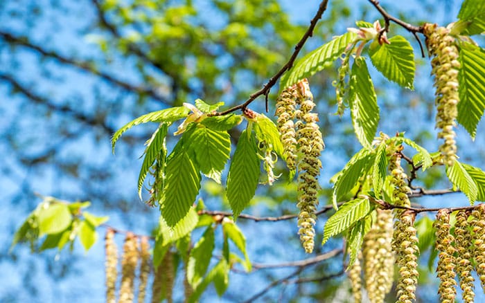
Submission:
[[[402,147],[398,147],[399,151]],[[411,202],[407,194],[411,189],[407,185],[407,175],[400,165],[402,156],[399,152],[391,155],[389,170],[392,174],[391,183],[394,185],[393,203],[398,206],[409,207]],[[394,217],[394,235],[392,248],[396,252],[396,264],[399,268],[398,302],[412,302],[416,299],[416,284],[418,284],[416,228],[414,228],[415,214],[409,210],[396,209]]]

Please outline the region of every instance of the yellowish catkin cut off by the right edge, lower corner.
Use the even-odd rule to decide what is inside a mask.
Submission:
[[[475,249],[473,257],[475,258],[475,270],[480,279],[480,284],[485,293],[485,204],[479,205],[473,209],[472,216],[475,218],[470,224],[473,228],[473,244]],[[471,223],[471,222],[470,222]]]

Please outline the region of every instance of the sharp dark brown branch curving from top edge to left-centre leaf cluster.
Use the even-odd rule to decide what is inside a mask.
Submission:
[[[300,41],[297,43],[296,46],[294,46],[294,52],[291,55],[290,59],[286,64],[276,73],[273,77],[270,78],[270,80],[263,86],[262,89],[259,91],[256,91],[255,93],[252,93],[252,95],[249,95],[249,99],[247,99],[243,104],[239,104],[236,107],[231,107],[230,109],[227,109],[226,111],[221,111],[220,113],[215,113],[215,116],[223,116],[227,115],[228,113],[232,113],[233,111],[237,111],[239,109],[245,109],[251,102],[256,100],[260,95],[267,95],[270,94],[270,91],[274,84],[278,81],[278,79],[285,73],[286,71],[289,71],[290,68],[292,68],[294,64],[294,60],[297,59],[298,54],[300,53],[301,48],[303,48],[303,45],[306,43],[306,40],[309,37],[312,37],[313,35],[313,30],[315,29],[315,26],[317,25],[317,22],[319,19],[321,19],[321,16],[324,14],[326,8],[327,8],[327,3],[328,0],[321,1],[319,9],[317,10],[317,13],[315,14],[315,17],[312,18],[310,21],[310,26],[308,26],[308,30],[306,30],[306,33],[301,37]]]

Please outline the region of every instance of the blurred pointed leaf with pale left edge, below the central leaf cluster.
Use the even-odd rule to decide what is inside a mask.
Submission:
[[[193,288],[201,282],[212,258],[215,247],[214,229],[209,226],[199,241],[191,249],[187,263],[187,280]]]

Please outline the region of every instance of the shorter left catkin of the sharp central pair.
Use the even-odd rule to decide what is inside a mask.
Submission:
[[[278,128],[283,143],[283,157],[288,168],[297,169],[297,133],[294,129],[294,111],[299,93],[297,86],[288,86],[276,99],[276,116]]]

